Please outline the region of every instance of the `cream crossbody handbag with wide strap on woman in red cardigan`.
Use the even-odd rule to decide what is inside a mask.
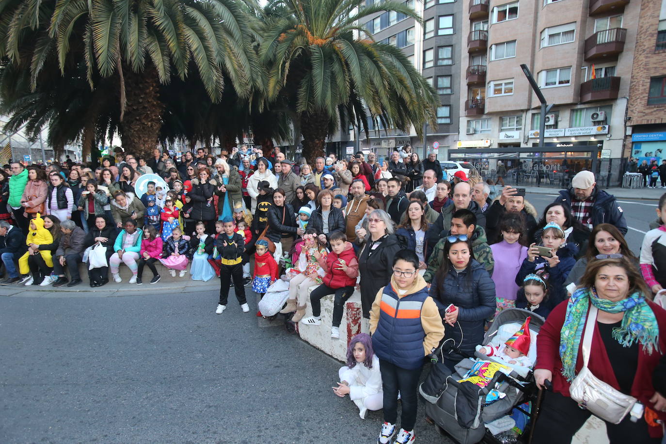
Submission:
[[[569,394],[581,409],[587,409],[609,423],[619,424],[638,400],[601,381],[587,367],[597,312],[597,308],[591,304],[583,335],[583,368],[571,381]]]

